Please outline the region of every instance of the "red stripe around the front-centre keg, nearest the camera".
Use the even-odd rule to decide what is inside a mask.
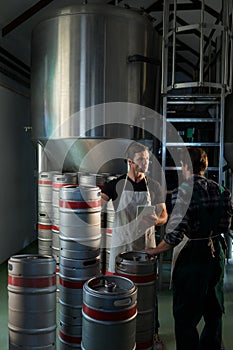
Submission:
[[[131,309],[124,311],[105,312],[92,309],[87,305],[83,304],[82,309],[87,316],[98,321],[125,321],[131,318],[132,316],[136,315],[137,313],[136,306],[133,306]]]

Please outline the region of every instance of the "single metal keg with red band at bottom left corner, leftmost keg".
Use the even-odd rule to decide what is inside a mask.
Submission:
[[[45,255],[8,261],[9,349],[56,349],[56,262]]]

